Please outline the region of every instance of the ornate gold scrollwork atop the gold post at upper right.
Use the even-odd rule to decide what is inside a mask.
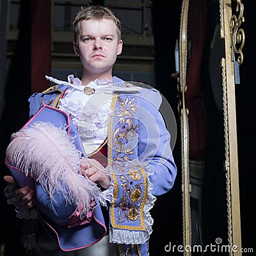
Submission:
[[[245,35],[244,30],[240,28],[242,22],[244,22],[243,11],[243,4],[240,0],[237,0],[236,12],[238,12],[238,17],[236,15],[232,15],[230,19],[230,34],[232,42],[232,52],[236,52],[237,54],[239,54],[239,56],[237,57],[237,62],[239,63],[239,65],[241,65],[244,60],[242,49],[244,47]],[[232,54],[232,61],[234,61],[233,58],[234,54]]]

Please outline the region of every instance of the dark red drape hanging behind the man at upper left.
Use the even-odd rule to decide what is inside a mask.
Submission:
[[[42,92],[51,75],[51,1],[31,1],[31,93]]]

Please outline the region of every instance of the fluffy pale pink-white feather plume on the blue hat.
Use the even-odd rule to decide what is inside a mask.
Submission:
[[[13,166],[34,177],[52,200],[60,190],[67,203],[76,202],[89,212],[100,189],[81,174],[82,154],[70,140],[63,128],[34,122],[12,134],[6,157]]]

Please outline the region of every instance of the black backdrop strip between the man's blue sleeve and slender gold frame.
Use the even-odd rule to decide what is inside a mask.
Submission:
[[[170,255],[168,246],[182,243],[182,195],[180,165],[180,124],[177,113],[177,79],[175,73],[175,43],[179,40],[180,11],[182,1],[152,1],[152,26],[155,51],[155,84],[157,90],[170,104],[177,122],[177,140],[173,157],[177,164],[177,178],[173,188],[157,196],[152,209],[154,219],[150,237],[150,254]],[[166,250],[164,249],[166,247]],[[175,255],[177,255],[177,251]]]

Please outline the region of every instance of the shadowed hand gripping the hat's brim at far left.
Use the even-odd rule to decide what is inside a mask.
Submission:
[[[4,176],[4,181],[10,184],[16,184],[12,176]],[[24,186],[23,188],[15,189],[15,198],[18,200],[20,205],[26,208],[32,208],[35,205],[35,196],[33,189],[29,186]]]

